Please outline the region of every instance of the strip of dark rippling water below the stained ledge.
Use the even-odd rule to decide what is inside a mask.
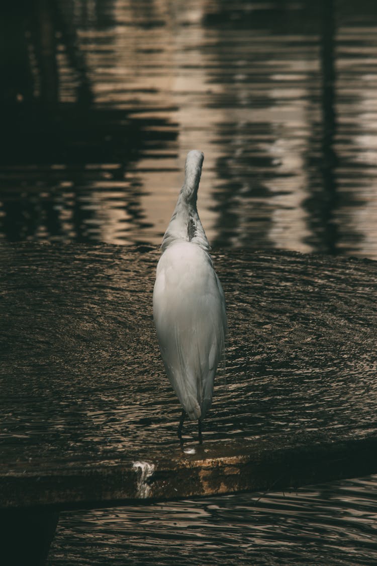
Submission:
[[[63,513],[50,553],[68,564],[332,564],[377,561],[377,477]]]

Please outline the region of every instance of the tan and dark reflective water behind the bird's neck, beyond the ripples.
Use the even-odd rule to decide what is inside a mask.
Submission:
[[[200,147],[215,246],[377,258],[366,0],[35,0],[7,24],[3,238],[158,245]]]

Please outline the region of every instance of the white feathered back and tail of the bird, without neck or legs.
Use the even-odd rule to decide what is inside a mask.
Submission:
[[[153,312],[167,376],[190,419],[205,417],[224,347],[225,299],[210,255],[178,239],[157,267]]]

